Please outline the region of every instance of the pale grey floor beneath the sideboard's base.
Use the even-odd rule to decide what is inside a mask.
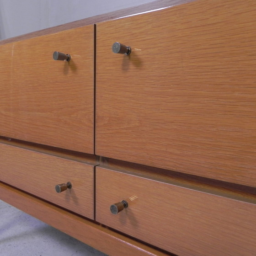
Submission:
[[[0,256],[106,256],[0,200]]]

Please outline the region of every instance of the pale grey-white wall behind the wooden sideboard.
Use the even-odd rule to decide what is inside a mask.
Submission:
[[[0,0],[0,39],[154,0]]]

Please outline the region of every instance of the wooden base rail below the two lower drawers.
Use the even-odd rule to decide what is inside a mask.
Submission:
[[[136,240],[0,182],[0,198],[109,256],[168,256]],[[170,256],[170,255],[169,255]]]

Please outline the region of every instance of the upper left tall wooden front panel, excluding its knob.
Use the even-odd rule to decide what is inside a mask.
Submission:
[[[1,45],[0,135],[94,153],[94,27]],[[53,52],[69,54],[53,60]]]

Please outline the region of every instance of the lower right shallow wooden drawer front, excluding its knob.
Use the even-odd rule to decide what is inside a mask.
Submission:
[[[110,206],[125,200],[117,214]],[[96,167],[96,221],[179,256],[253,256],[256,205]]]

